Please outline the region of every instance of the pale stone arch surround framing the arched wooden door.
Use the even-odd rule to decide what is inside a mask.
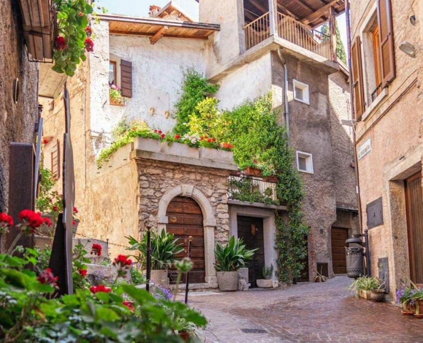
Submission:
[[[157,212],[157,229],[166,231],[168,217],[166,211],[170,202],[178,196],[189,197],[194,199],[201,208],[203,213],[204,226],[204,260],[205,260],[205,284],[202,288],[217,287],[216,270],[214,269],[214,228],[216,227],[216,219],[213,208],[207,197],[193,185],[178,185],[169,189],[159,201],[159,209]]]

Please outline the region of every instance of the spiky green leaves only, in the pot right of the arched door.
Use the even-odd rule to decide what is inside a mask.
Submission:
[[[215,268],[217,271],[237,271],[245,266],[245,262],[251,260],[257,249],[248,250],[242,238],[235,239],[232,236],[228,244],[223,247],[216,244],[214,254],[216,255]]]

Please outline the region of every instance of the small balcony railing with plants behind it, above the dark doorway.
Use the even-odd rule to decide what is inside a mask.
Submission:
[[[262,178],[230,176],[228,198],[251,203],[277,204],[276,183]]]

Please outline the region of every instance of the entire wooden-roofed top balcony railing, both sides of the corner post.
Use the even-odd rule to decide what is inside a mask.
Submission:
[[[329,36],[296,21],[282,13],[277,14],[277,33],[279,37],[313,53],[331,59]],[[251,49],[273,35],[270,32],[269,12],[245,25],[245,48]]]

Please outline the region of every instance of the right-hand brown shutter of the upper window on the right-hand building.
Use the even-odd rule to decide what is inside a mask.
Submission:
[[[390,0],[377,0],[377,22],[379,25],[382,87],[385,88],[395,78],[395,52]]]

